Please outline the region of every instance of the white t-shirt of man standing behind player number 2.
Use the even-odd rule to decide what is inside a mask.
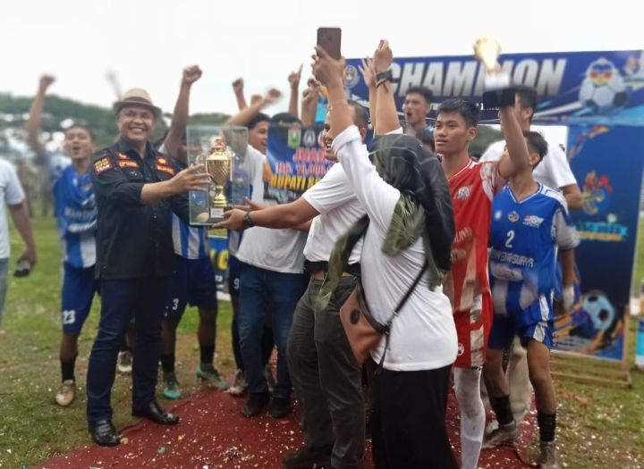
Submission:
[[[481,155],[479,162],[499,161],[504,153],[505,140],[499,140],[487,147],[486,152]],[[548,188],[561,189],[571,184],[577,184],[570,164],[562,149],[557,145],[548,144],[548,152],[541,163],[538,163],[534,172],[534,179]]]

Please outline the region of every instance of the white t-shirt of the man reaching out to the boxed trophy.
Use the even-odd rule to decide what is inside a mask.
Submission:
[[[341,164],[331,166],[302,197],[319,212],[311,223],[304,257],[311,262],[328,261],[335,242],[366,212]],[[362,239],[353,247],[349,264],[360,262],[361,249]]]

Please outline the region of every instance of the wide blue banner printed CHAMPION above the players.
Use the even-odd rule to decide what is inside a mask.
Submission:
[[[644,51],[503,54],[499,63],[514,83],[537,89],[536,124],[644,125]],[[359,65],[360,59],[347,61],[346,88],[366,104],[369,90]],[[480,102],[483,93],[485,71],[473,55],[396,58],[392,72],[399,111],[411,86],[429,88],[434,109],[450,96]],[[484,110],[482,118],[497,121],[496,111]]]

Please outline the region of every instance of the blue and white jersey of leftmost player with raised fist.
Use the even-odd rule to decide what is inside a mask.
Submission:
[[[48,161],[64,261],[72,267],[90,267],[96,264],[97,205],[89,172],[55,166],[51,155]]]

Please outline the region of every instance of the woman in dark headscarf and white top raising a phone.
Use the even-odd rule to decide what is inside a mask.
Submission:
[[[386,71],[390,64],[386,63],[386,51],[389,55],[391,51],[386,42],[381,42],[378,50],[376,66]],[[391,318],[419,272],[428,265],[427,273],[392,322],[388,348],[383,339],[371,353],[376,363],[382,361],[374,383],[376,466],[456,467],[445,431],[449,373],[457,351],[452,306],[441,287],[443,274],[450,268],[453,239],[445,175],[436,158],[410,136],[378,138],[371,163],[344,97],[343,60],[335,61],[319,47],[317,54],[313,70],[329,92],[333,149],[369,217],[338,241],[322,300],[342,272],[342,265],[332,264],[347,255],[362,232],[361,280],[369,311],[377,322],[385,324]],[[384,115],[386,106],[394,105],[389,88],[377,88],[377,125],[381,108]]]

